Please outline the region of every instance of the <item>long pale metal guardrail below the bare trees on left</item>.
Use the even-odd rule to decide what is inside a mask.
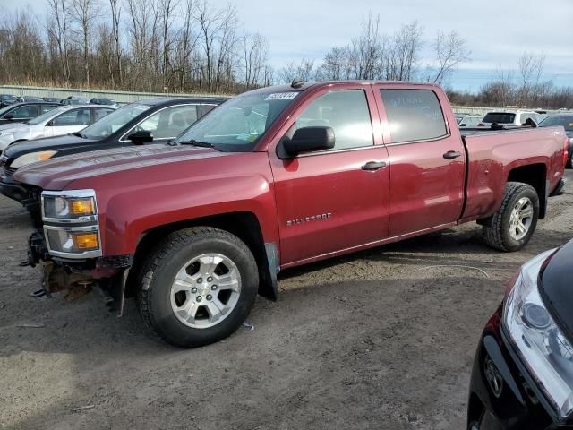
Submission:
[[[122,103],[131,103],[141,99],[156,99],[158,97],[230,97],[228,95],[215,94],[171,94],[168,92],[131,92],[131,91],[111,91],[111,90],[79,90],[63,89],[53,87],[28,87],[21,85],[0,85],[0,92],[13,94],[15,96],[36,96],[36,97],[56,97],[66,99],[70,96],[84,97],[86,99],[114,99]]]

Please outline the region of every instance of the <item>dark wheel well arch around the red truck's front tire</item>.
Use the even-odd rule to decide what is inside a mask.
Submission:
[[[131,297],[137,292],[137,275],[141,271],[146,257],[155,250],[163,238],[177,230],[198,226],[219,228],[241,239],[251,250],[259,268],[259,294],[271,300],[277,299],[277,273],[269,265],[269,257],[271,256],[268,255],[267,244],[265,244],[262,236],[261,223],[251,211],[237,211],[197,219],[186,219],[158,226],[145,232],[135,249],[133,268],[127,280],[127,295]]]

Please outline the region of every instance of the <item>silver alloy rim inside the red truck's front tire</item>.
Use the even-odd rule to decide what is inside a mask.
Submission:
[[[223,254],[201,254],[176,273],[171,285],[171,308],[177,319],[194,329],[221,323],[241,295],[241,274]]]

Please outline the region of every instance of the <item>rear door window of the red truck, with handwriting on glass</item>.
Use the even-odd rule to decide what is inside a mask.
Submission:
[[[440,100],[432,90],[381,90],[392,143],[430,141],[446,136]]]

